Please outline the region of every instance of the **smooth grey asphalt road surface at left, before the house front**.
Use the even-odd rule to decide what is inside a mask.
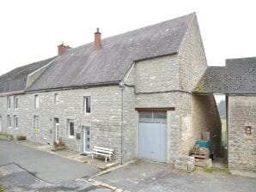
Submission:
[[[51,153],[25,147],[15,141],[0,140],[0,166],[15,163],[49,183],[65,183],[90,177],[99,170],[92,165],[64,159]]]

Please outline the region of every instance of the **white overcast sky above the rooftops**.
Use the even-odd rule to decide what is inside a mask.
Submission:
[[[8,0],[0,3],[0,75],[76,47],[196,12],[209,65],[256,56],[254,1],[235,0]]]

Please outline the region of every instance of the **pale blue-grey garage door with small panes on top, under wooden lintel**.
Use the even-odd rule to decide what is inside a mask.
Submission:
[[[166,111],[139,112],[138,157],[157,162],[167,162]]]

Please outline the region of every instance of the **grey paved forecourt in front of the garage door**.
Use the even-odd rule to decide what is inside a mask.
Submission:
[[[256,191],[255,178],[232,176],[226,173],[188,174],[171,170],[167,165],[140,161],[94,179],[121,189],[139,192]]]

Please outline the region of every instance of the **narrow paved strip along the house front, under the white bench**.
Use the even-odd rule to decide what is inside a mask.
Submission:
[[[108,161],[106,163],[104,161],[104,159],[97,159],[97,158],[92,159],[89,154],[88,155],[80,154],[80,153],[77,153],[70,149],[63,149],[63,150],[53,152],[52,146],[49,146],[49,145],[42,145],[40,143],[36,143],[33,141],[28,141],[28,140],[16,141],[16,142],[19,142],[22,145],[27,146],[27,147],[33,147],[33,148],[39,149],[41,151],[45,151],[47,153],[52,153],[52,154],[58,155],[60,157],[66,158],[66,159],[76,160],[82,164],[94,165],[95,167],[99,168],[101,171],[106,171],[107,169],[112,168],[113,166],[119,165],[119,162],[114,161],[114,160]]]

